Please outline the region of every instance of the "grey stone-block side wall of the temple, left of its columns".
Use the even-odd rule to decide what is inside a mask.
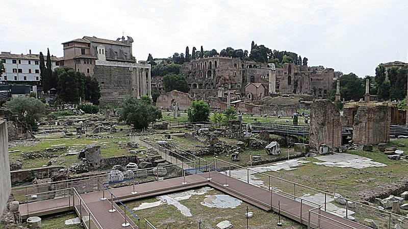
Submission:
[[[100,104],[119,105],[126,95],[132,95],[132,71],[129,67],[96,65],[93,71],[93,77],[99,82]]]

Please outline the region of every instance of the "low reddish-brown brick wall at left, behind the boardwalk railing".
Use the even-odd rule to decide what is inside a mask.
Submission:
[[[31,181],[34,180],[34,178],[50,178],[53,173],[59,171],[61,168],[64,168],[64,166],[48,166],[10,171],[11,184],[14,185],[24,181]]]

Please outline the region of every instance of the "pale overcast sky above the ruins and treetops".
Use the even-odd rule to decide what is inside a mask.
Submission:
[[[254,41],[305,56],[309,66],[363,77],[408,55],[408,0],[2,0],[0,9],[0,51],[17,54],[48,47],[63,56],[62,42],[116,40],[124,32],[138,61],[186,46],[250,50]]]

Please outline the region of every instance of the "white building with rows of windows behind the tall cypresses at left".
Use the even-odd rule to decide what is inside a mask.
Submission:
[[[46,62],[46,53],[44,61]],[[59,59],[52,55],[51,62],[53,70],[59,66],[56,62]],[[31,54],[11,54],[10,52],[1,52],[0,61],[3,62],[4,72],[0,76],[0,81],[40,81],[40,55]]]

